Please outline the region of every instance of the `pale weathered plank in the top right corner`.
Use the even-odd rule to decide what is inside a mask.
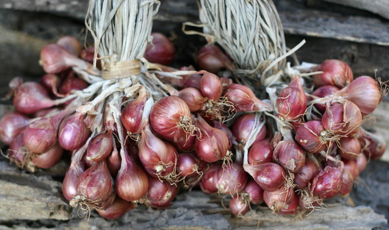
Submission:
[[[347,5],[362,10],[368,10],[382,17],[389,19],[389,1],[388,0],[324,0],[341,5]]]

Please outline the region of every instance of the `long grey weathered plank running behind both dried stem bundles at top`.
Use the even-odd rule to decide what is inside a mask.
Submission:
[[[389,46],[389,23],[386,21],[312,10],[294,1],[278,1],[278,6],[287,34]],[[48,12],[83,20],[88,0],[2,0],[0,8]],[[198,22],[196,1],[163,0],[155,19],[168,22]]]

